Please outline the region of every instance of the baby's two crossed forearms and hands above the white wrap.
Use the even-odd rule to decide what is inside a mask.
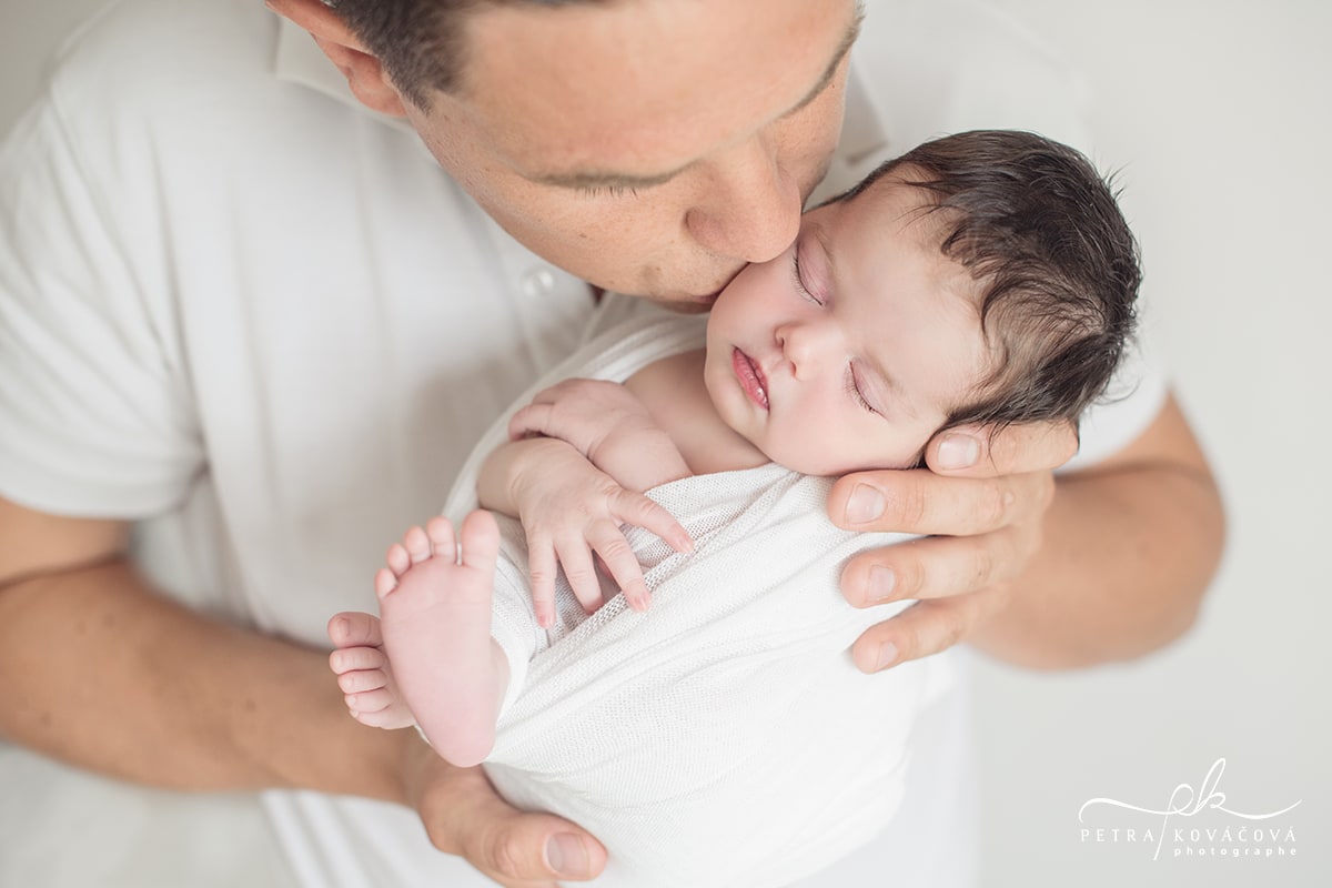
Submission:
[[[486,459],[478,494],[485,507],[523,523],[537,622],[554,623],[558,564],[585,610],[601,606],[593,553],[643,610],[647,587],[621,525],[645,527],[677,551],[693,549],[670,513],[639,493],[690,474],[674,443],[623,386],[589,379],[546,389],[509,430],[518,439]],[[533,433],[551,437],[523,437]]]

